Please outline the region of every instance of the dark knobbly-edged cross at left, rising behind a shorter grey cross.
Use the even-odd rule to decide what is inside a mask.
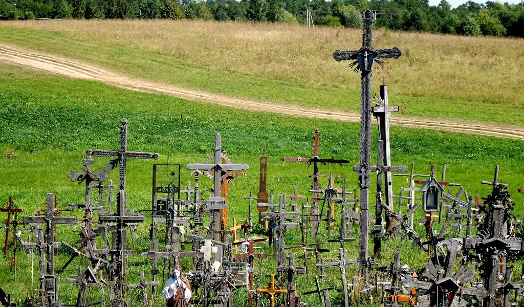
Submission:
[[[159,154],[151,152],[127,151],[127,119],[122,118],[120,121],[120,148],[115,150],[95,149],[92,150],[95,157],[118,158],[118,190],[126,190],[126,162],[129,158],[134,159],[155,159],[160,158]]]

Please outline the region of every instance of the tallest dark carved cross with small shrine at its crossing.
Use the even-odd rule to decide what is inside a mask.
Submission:
[[[369,185],[370,185],[370,166],[371,166],[371,71],[373,62],[376,59],[394,58],[398,59],[402,52],[397,47],[392,49],[372,48],[372,23],[374,14],[370,10],[364,12],[362,25],[364,27],[362,35],[362,48],[356,51],[336,50],[333,58],[336,61],[354,60],[350,64],[355,71],[360,70],[361,86],[361,140],[360,140],[360,157],[358,179],[360,185],[360,206],[361,206],[361,223],[360,223],[360,253],[359,253],[359,271],[361,276],[366,274],[365,260],[368,255],[368,235],[369,235]],[[379,64],[382,62],[377,61]]]

